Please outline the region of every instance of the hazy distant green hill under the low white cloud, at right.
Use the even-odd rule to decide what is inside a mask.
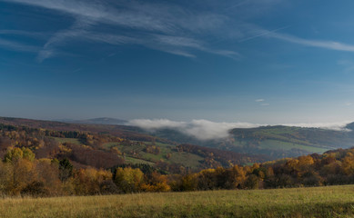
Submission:
[[[348,124],[340,131],[282,125],[236,128],[229,131],[227,138],[214,140],[198,140],[174,129],[159,129],[151,134],[180,144],[198,144],[241,154],[262,154],[275,160],[354,146],[353,125]]]

